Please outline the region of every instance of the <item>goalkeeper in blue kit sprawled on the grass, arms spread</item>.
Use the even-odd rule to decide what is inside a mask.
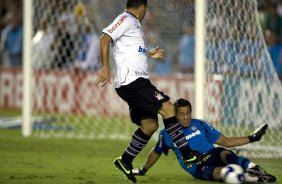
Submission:
[[[224,147],[241,146],[255,141],[259,141],[265,134],[267,124],[261,125],[254,133],[246,137],[225,137],[211,124],[199,119],[192,119],[192,106],[185,99],[178,99],[175,103],[176,117],[183,127],[185,138],[191,149],[199,150],[202,153],[210,153],[211,158],[202,164],[193,164],[187,167],[181,159],[181,154],[173,144],[165,129],[160,131],[159,140],[154,149],[150,152],[145,165],[138,169],[133,169],[135,175],[143,176],[158,161],[161,154],[168,154],[172,149],[181,167],[196,179],[209,181],[222,181],[220,177],[221,169],[228,164],[241,166],[245,173],[246,182],[275,182],[276,178],[267,173],[263,168],[249,159],[236,155],[231,150],[223,147],[214,147],[217,144]]]

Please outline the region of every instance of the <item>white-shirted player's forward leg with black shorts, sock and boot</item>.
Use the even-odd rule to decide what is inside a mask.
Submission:
[[[116,89],[118,95],[131,106],[163,116],[164,125],[173,141],[180,149],[187,165],[208,158],[198,152],[192,152],[185,140],[183,130],[178,123],[173,104],[169,96],[159,91],[148,79],[139,78],[127,86]]]

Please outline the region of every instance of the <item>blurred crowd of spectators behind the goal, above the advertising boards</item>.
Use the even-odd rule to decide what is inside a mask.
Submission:
[[[126,0],[33,2],[33,67],[98,70],[101,31],[124,10]],[[256,60],[267,60],[268,55],[263,54],[261,50],[268,49],[274,68],[282,78],[282,0],[257,1],[259,20],[267,48],[264,48],[263,42],[257,41],[260,29],[249,26],[256,24],[256,20],[241,18],[250,17],[246,15],[248,3],[242,3],[242,0],[231,0],[225,3],[226,5],[220,5],[224,4],[223,0],[216,3],[219,5],[215,3],[207,5],[208,8],[213,8],[208,11],[212,14],[206,16],[208,48],[205,54],[210,66],[209,72],[232,74],[245,71],[250,74],[250,70],[259,70]],[[142,23],[148,48],[160,45],[167,53],[163,61],[149,63],[150,71],[156,75],[192,74],[195,60],[194,1],[162,0],[162,3],[159,3],[158,0],[150,0],[149,4],[151,6]],[[232,8],[233,11],[229,11],[228,8]],[[166,12],[162,11],[163,9],[166,9]],[[1,66],[22,66],[22,11],[23,0],[0,0]],[[224,18],[227,14],[231,17],[234,14],[237,18],[226,21]],[[241,33],[246,37],[237,38]],[[237,57],[238,54],[240,57]],[[263,66],[263,62],[261,63],[260,67]]]

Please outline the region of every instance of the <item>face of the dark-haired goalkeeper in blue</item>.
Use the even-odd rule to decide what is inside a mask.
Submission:
[[[188,127],[191,122],[191,109],[189,106],[178,107],[176,118],[182,127]]]

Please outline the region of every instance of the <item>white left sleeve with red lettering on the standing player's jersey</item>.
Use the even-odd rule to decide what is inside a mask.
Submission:
[[[118,16],[108,27],[103,29],[103,33],[109,35],[113,41],[120,38],[130,27],[130,20],[127,15]]]

